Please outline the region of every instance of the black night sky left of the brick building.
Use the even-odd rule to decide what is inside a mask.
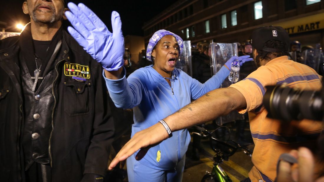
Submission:
[[[144,22],[167,9],[175,1],[68,0],[68,2],[84,3],[98,15],[109,30],[111,30],[111,12],[117,11],[121,16],[124,36],[143,36],[142,26]],[[15,28],[17,23],[26,24],[29,22],[29,16],[22,12],[22,3],[23,0],[2,0],[0,21],[7,23],[6,31],[18,31]]]

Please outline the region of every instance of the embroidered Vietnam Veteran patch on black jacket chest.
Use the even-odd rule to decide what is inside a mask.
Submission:
[[[64,75],[82,76],[83,78],[90,78],[89,66],[83,66],[74,63],[64,63]]]

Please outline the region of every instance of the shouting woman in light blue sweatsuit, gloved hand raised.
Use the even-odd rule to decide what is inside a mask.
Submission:
[[[251,60],[246,59],[249,56],[232,57],[226,66],[202,84],[175,68],[183,48],[182,39],[170,31],[158,30],[149,40],[146,52],[146,59],[153,65],[134,71],[126,79],[122,67],[124,44],[118,13],[112,13],[112,34],[83,4],[75,6],[69,3],[68,6],[73,14],[68,13],[67,17],[76,29],[69,27],[68,30],[105,68],[106,85],[113,102],[119,108],[134,108],[132,136],[186,106],[191,99],[219,88],[228,76],[233,60],[238,59],[242,63]],[[135,153],[127,159],[128,180],[182,181],[189,142],[187,130],[175,131],[167,140],[150,148],[141,160],[135,159]]]

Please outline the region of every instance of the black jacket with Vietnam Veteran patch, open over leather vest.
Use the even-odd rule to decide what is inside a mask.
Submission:
[[[25,181],[22,151],[24,103],[19,36],[0,41],[0,179]],[[73,79],[81,65],[86,81]],[[80,181],[83,174],[104,176],[114,126],[102,67],[65,31],[52,80],[54,104],[49,155],[52,181]],[[69,70],[70,68],[70,70]],[[81,67],[79,67],[81,68]],[[86,70],[89,68],[89,70]]]

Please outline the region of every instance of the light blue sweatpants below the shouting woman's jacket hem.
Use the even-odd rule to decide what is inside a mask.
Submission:
[[[138,162],[132,155],[127,158],[127,175],[129,182],[181,182],[184,170],[184,163],[186,161],[186,155],[184,155],[179,161],[175,169],[161,171],[147,167],[146,165]]]

